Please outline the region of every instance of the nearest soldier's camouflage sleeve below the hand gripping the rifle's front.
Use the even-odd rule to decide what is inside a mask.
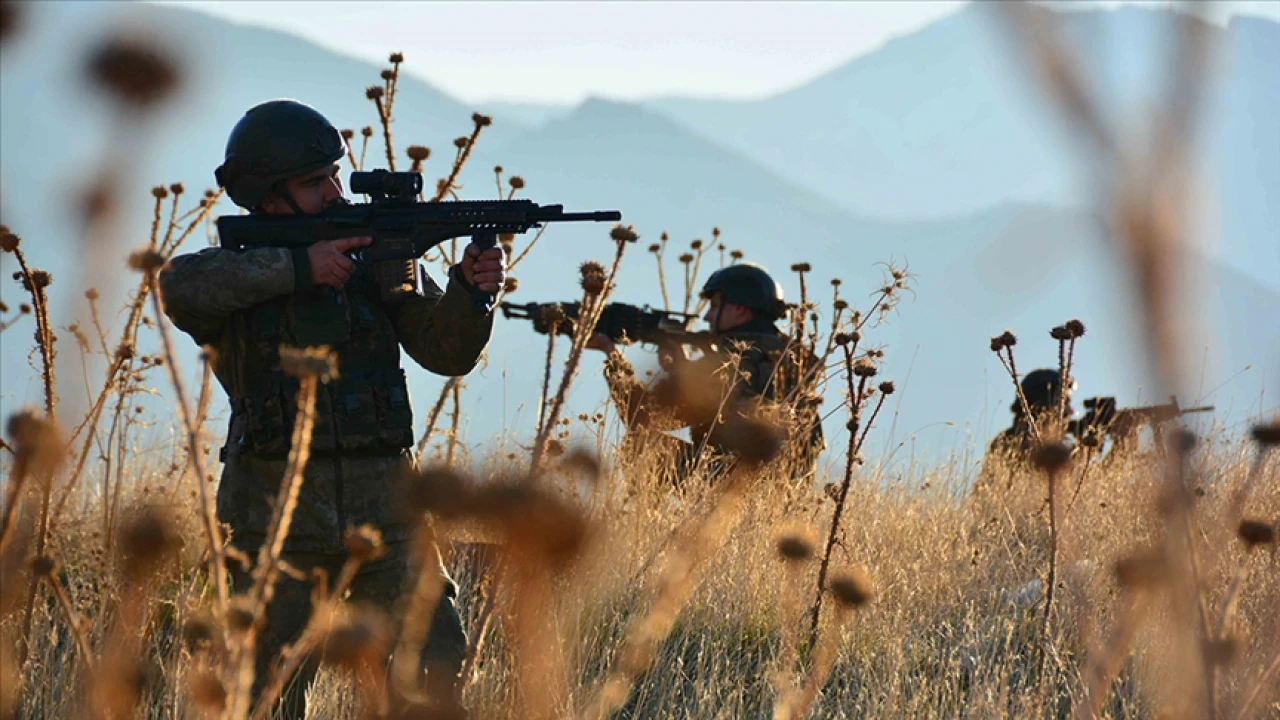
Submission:
[[[447,377],[470,373],[493,333],[493,313],[475,306],[474,291],[449,269],[445,290],[422,274],[422,293],[390,307],[401,347],[422,368]]]

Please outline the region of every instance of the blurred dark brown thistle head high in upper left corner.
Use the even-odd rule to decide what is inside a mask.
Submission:
[[[125,105],[147,109],[180,82],[174,60],[137,38],[109,38],[90,54],[87,73]]]

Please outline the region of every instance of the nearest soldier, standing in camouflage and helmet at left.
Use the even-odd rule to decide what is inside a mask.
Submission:
[[[273,100],[236,124],[215,177],[253,215],[314,215],[347,204],[338,176],[346,155],[342,135],[324,115],[302,102]],[[408,292],[384,297],[369,264],[347,255],[369,243],[342,238],[296,249],[210,247],[174,258],[160,273],[160,290],[174,325],[215,351],[212,370],[232,406],[218,519],[248,557],[265,539],[296,409],[298,382],[282,372],[279,348],[333,348],[338,377],[319,389],[311,457],[283,557],[302,573],[323,569],[337,578],[347,556],[344,532],[372,525],[385,552],[361,566],[351,598],[399,616],[396,606],[412,587],[415,565],[434,564],[444,574],[438,552],[411,557],[412,520],[396,510],[393,478],[412,464],[413,441],[401,348],[433,373],[470,373],[493,328],[492,311],[477,300],[502,287],[506,259],[502,249],[468,245],[448,270],[444,290],[422,273]],[[247,571],[232,569],[236,592],[251,582]],[[445,575],[421,657],[424,689],[451,716],[462,714],[457,675],[466,652],[456,593]],[[260,635],[255,702],[310,611],[310,584],[282,575]],[[317,661],[308,660],[287,685],[276,708],[284,717],[305,716],[316,670]]]

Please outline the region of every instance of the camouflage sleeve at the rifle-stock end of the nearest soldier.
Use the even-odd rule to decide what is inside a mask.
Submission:
[[[201,345],[214,342],[233,313],[288,295],[300,282],[311,282],[306,250],[282,247],[207,247],[173,258],[159,278],[165,315]]]

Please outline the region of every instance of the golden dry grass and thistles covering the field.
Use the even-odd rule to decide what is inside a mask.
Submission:
[[[128,132],[129,113],[148,111],[180,73],[145,47],[108,49],[93,72],[128,110],[119,120]],[[1121,167],[1069,56],[1043,40],[1036,50],[1071,117]],[[393,55],[384,85],[366,94],[389,165],[401,61]],[[128,72],[109,72],[115,67]],[[476,115],[472,123],[471,135],[454,143],[433,201],[454,196],[489,119]],[[361,135],[367,147],[372,128]],[[413,147],[408,155],[421,169],[429,152]],[[502,192],[502,170],[495,176]],[[508,183],[508,197],[525,187],[518,177]],[[1142,187],[1102,200],[1114,205],[1124,247],[1139,260],[1151,364],[1176,387],[1178,365],[1165,357],[1178,352],[1176,323],[1162,310],[1160,259],[1176,254],[1181,225],[1166,205],[1143,204]],[[205,466],[205,447],[219,439],[205,430],[209,373],[192,405],[154,296],[157,265],[218,200],[206,193],[182,214],[180,195],[180,186],[155,191],[151,242],[131,258],[142,279],[114,350],[96,292],[87,297],[97,347],[73,334],[78,351],[101,356],[108,372],[70,433],[61,429],[65,414],[54,416],[51,279],[20,261],[45,359],[45,409],[12,418],[0,448],[0,717],[264,715],[246,696],[242,660],[251,656],[274,577],[289,571],[273,551],[288,533],[297,486],[282,486],[274,542],[256,562],[224,557]],[[99,197],[87,208],[101,206]],[[87,238],[99,232],[95,218],[90,213]],[[612,238],[612,269],[596,263],[584,272],[584,301],[600,306],[635,236],[614,228]],[[718,229],[713,238],[691,242],[678,259],[686,310],[696,310],[703,255],[714,247],[724,263]],[[663,234],[650,249],[664,305],[667,242]],[[513,254],[511,245],[503,241]],[[3,247],[17,252],[20,242],[5,231]],[[451,261],[457,247],[440,256]],[[675,493],[662,479],[667,459],[644,443],[605,447],[599,456],[564,452],[576,437],[559,407],[589,323],[572,338],[529,457],[477,460],[468,465],[484,470],[460,474],[463,387],[445,384],[417,446],[420,456],[442,462],[402,482],[422,512],[416,543],[442,542],[462,588],[474,652],[465,701],[474,716],[1243,720],[1280,712],[1277,425],[1258,425],[1252,438],[1190,443],[1178,436],[1174,451],[1110,462],[1091,464],[1092,455],[1083,464],[1042,462],[1052,482],[1041,470],[996,461],[983,469],[978,489],[975,469],[960,465],[882,482],[861,442],[893,384],[877,377],[883,354],[864,336],[909,290],[910,275],[890,268],[873,305],[859,311],[841,299],[838,282],[829,307],[820,307],[805,286],[808,264],[792,270],[804,288],[791,315],[792,350],[803,360],[799,379],[780,393],[788,411],[733,428],[744,461],[714,484],[694,477]],[[15,316],[3,327],[24,322]],[[140,355],[140,327],[161,332],[163,356]],[[1066,369],[1075,340],[1061,354]],[[1012,352],[1005,359],[1016,379]],[[161,366],[172,391],[159,389]],[[326,373],[319,356],[294,357],[291,372],[310,378],[310,387]],[[714,387],[712,378],[692,380],[687,387]],[[850,429],[844,473],[829,486],[824,478],[795,482],[783,442],[795,428],[778,418],[804,409],[828,382],[846,389],[842,406],[828,413],[828,427],[836,418]],[[133,419],[136,400],[152,391],[170,398],[180,418],[170,423],[177,441],[156,441]],[[714,393],[684,400],[712,410],[724,401]],[[114,418],[102,427],[113,405]],[[452,429],[438,432],[445,448],[429,456],[445,405]],[[298,411],[310,415],[305,398]],[[306,462],[306,427],[300,423],[294,438],[294,479]],[[1060,434],[1044,430],[1046,439]],[[1069,487],[1075,493],[1064,502]],[[379,548],[375,533],[352,532],[348,541],[352,560],[339,587]],[[224,562],[256,566],[255,588],[229,596]],[[389,678],[379,671],[393,644],[404,657],[425,641],[440,588],[431,573],[422,578],[407,603],[407,630],[394,643],[384,619],[356,614],[337,593],[317,593],[319,612],[298,647],[324,652],[314,717],[422,716],[413,715],[421,708],[407,680],[412,669],[393,664]],[[287,669],[298,660],[287,655],[280,662]]]

